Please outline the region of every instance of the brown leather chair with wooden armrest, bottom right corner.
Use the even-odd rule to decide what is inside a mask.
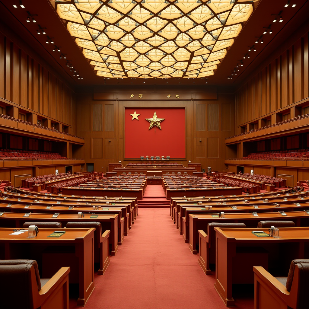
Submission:
[[[260,266],[253,271],[254,308],[308,308],[309,259],[292,260],[287,277],[273,277]]]

